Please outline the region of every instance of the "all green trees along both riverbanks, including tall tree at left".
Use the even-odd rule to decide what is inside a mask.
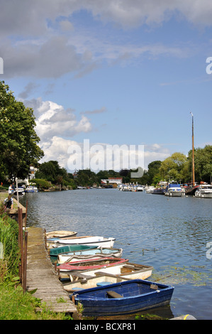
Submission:
[[[35,133],[35,116],[33,109],[16,101],[9,86],[0,81],[0,181],[16,177],[26,178],[31,165],[38,168],[35,178],[43,188],[64,185],[76,188],[77,185],[92,186],[101,184],[101,179],[123,178],[123,183],[156,185],[159,181],[177,181],[189,183],[192,180],[192,151],[185,156],[175,152],[164,161],[152,161],[141,178],[131,178],[132,170],[99,171],[90,169],[77,171],[77,178],[61,168],[57,161],[38,163],[44,152],[38,146],[40,138]],[[212,146],[194,149],[195,181],[211,182]],[[134,171],[135,172],[135,171]]]

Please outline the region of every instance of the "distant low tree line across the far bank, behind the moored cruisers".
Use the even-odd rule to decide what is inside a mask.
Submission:
[[[206,145],[203,149],[194,149],[195,161],[195,181],[211,183],[212,176],[212,146]],[[39,171],[35,173],[35,177],[45,179],[52,184],[69,185],[77,188],[82,186],[101,185],[101,179],[123,178],[123,183],[138,183],[142,185],[157,185],[160,181],[177,181],[185,184],[191,183],[192,175],[192,150],[188,156],[183,153],[175,152],[172,156],[164,159],[164,161],[152,161],[148,165],[148,169],[143,171],[141,178],[131,178],[133,170],[122,169],[121,171],[99,171],[94,173],[90,169],[77,171],[77,178],[72,173],[67,173],[65,168],[60,168],[57,161],[48,161],[41,163]],[[133,171],[135,172],[135,171]]]

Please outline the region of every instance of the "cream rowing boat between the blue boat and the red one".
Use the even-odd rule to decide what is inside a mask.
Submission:
[[[63,283],[66,291],[94,288],[96,284],[102,286],[127,281],[129,279],[147,279],[152,275],[152,266],[143,264],[123,263],[101,271],[75,271],[70,275],[70,281]],[[112,273],[112,274],[111,274]]]

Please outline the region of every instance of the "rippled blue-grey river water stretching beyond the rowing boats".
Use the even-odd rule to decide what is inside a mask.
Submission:
[[[27,226],[115,237],[124,258],[153,266],[148,280],[174,286],[174,293],[169,306],[151,313],[212,319],[211,199],[88,189],[27,193],[20,202],[26,200]]]

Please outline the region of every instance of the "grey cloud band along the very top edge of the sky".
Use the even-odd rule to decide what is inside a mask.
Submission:
[[[179,14],[193,23],[211,25],[212,4],[211,0],[8,0],[1,4],[0,31],[4,35],[40,36],[50,31],[48,21],[54,23],[62,17],[62,26],[67,28],[65,18],[82,9],[96,19],[123,27],[162,23]]]

